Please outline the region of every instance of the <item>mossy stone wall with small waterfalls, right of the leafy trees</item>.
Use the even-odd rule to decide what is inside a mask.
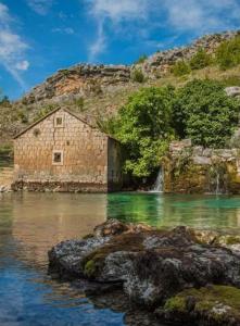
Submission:
[[[164,192],[240,193],[240,150],[174,141],[163,160]]]

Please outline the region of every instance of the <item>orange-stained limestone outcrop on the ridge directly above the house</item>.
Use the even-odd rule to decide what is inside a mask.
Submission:
[[[125,65],[79,64],[68,70],[60,70],[45,83],[36,86],[24,97],[30,104],[42,100],[62,100],[73,96],[99,95],[111,86],[119,86],[130,80],[130,67]]]

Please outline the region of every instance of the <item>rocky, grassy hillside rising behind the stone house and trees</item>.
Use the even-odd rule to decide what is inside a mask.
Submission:
[[[141,87],[168,84],[179,87],[193,78],[226,80],[227,85],[233,86],[239,83],[239,65],[220,71],[212,64],[178,77],[172,73],[172,67],[179,60],[191,60],[199,49],[214,53],[223,41],[237,35],[239,32],[204,36],[188,47],[156,52],[130,66],[77,64],[60,70],[18,101],[1,104],[0,147],[9,149],[13,135],[60,104],[81,114],[92,124],[101,125],[117,112],[132,91]],[[140,72],[140,79],[136,72]]]

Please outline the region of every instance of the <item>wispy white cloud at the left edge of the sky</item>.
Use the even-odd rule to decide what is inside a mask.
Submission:
[[[25,59],[29,46],[13,30],[12,23],[14,18],[10,15],[8,7],[0,2],[0,64],[25,89],[26,85],[20,72],[29,66]]]

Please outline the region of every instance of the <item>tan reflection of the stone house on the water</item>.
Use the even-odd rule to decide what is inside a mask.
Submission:
[[[12,201],[12,236],[21,260],[47,263],[52,246],[79,239],[106,218],[105,195],[22,193]]]

